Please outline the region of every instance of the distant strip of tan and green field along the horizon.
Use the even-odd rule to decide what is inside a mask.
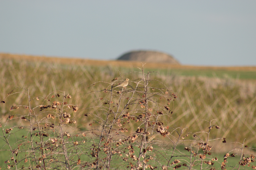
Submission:
[[[60,58],[46,56],[31,56],[31,55],[13,55],[0,53],[0,58],[11,60],[22,60],[30,62],[57,63],[63,65],[84,65],[96,67],[115,67],[126,68],[131,70],[133,66],[141,67],[140,62],[134,61],[117,61],[117,60],[89,60],[77,58]],[[233,78],[242,80],[256,79],[256,66],[240,66],[240,67],[214,67],[214,66],[191,66],[191,65],[172,65],[166,63],[147,63],[145,68],[150,71],[158,71],[161,75],[183,75],[183,76],[206,76],[217,78]]]

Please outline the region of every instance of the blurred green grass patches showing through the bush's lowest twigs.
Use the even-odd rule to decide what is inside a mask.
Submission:
[[[10,127],[6,127],[6,128],[10,128]],[[34,133],[36,133],[37,131],[34,131]],[[11,145],[12,147],[12,150],[17,148],[17,145],[20,144],[19,141],[22,141],[22,140],[26,140],[24,137],[27,136],[27,139],[29,140],[29,137],[30,137],[30,134],[28,134],[28,132],[26,131],[26,129],[18,129],[17,127],[13,128],[12,132],[10,134],[3,134],[2,132],[0,133],[0,136],[3,136],[5,135],[7,138],[8,138],[8,141],[9,141],[9,144]],[[72,140],[73,138],[73,140]],[[84,139],[80,138],[80,137],[76,137],[76,136],[73,136],[72,138],[70,138],[68,141],[69,142],[72,142],[72,141],[78,141],[79,143],[81,143]],[[1,139],[4,139],[3,137],[1,137]],[[49,139],[49,137],[45,137],[44,138],[44,141],[47,141]],[[35,139],[33,139],[33,141],[35,142]],[[39,141],[38,141],[39,142]],[[86,145],[92,145],[92,144],[97,144],[98,143],[98,140],[92,140],[92,141],[87,141],[86,142]],[[172,155],[172,152],[173,152],[173,146],[170,146],[170,148],[162,148],[162,147],[159,147],[159,145],[157,144],[157,141],[156,142],[152,142],[151,143],[152,146],[154,147],[154,152],[152,152],[152,154],[149,154],[149,155],[152,155],[153,156],[153,153],[154,154],[157,154],[159,156],[159,159],[158,159],[158,156],[155,158],[156,160],[161,160],[161,155],[169,155],[169,157],[167,156],[166,158],[167,159],[170,159],[171,158],[171,155]],[[79,145],[81,149],[83,149],[83,144],[80,144]],[[9,159],[12,157],[12,154],[10,152],[10,149],[9,149],[9,146],[6,145],[6,143],[1,140],[0,142],[0,167],[7,167],[7,164],[4,164],[4,161]],[[24,149],[24,148],[22,148]],[[139,152],[139,148],[138,147],[135,147],[134,146],[134,149],[137,150],[137,152]],[[80,159],[82,161],[92,161],[92,158],[90,156],[90,150],[84,150],[84,152],[86,152],[87,154],[81,154],[80,155]],[[136,153],[136,152],[135,152]],[[200,150],[201,154],[203,154],[203,152]],[[19,152],[18,154],[18,159],[20,160],[21,158],[26,158],[26,152]],[[174,161],[175,159],[178,159],[180,160],[181,163],[179,164],[184,164],[186,163],[188,165],[188,163],[190,162],[190,152],[187,152],[184,150],[184,145],[178,145],[176,150],[175,150],[175,153],[173,154],[173,158],[171,159],[171,162]],[[225,155],[224,152],[212,152],[212,155],[209,156],[207,155],[206,159],[204,160],[211,160],[212,158],[215,158],[217,157],[218,158],[218,161],[213,161],[214,162],[214,165],[207,165],[207,164],[203,164],[203,168],[211,168],[211,167],[215,167],[216,169],[220,169],[220,164],[221,162],[223,161],[223,156]],[[102,155],[104,157],[104,155]],[[125,153],[124,153],[124,157],[125,157]],[[77,160],[78,158],[77,157],[74,157],[75,160]],[[162,158],[163,159],[163,158]],[[196,158],[198,159],[198,158]],[[193,161],[194,159],[192,159]],[[226,168],[228,170],[231,170],[231,169],[234,169],[234,167],[238,168],[238,162],[240,160],[240,156],[239,155],[236,155],[236,157],[230,157],[228,158],[228,163],[226,163]],[[118,160],[120,161],[120,160]],[[121,164],[122,162],[118,162],[118,161],[115,161],[115,157],[113,157],[113,164]],[[200,161],[199,161],[200,162]],[[157,162],[155,162],[157,163]],[[161,161],[160,161],[161,163]],[[163,162],[162,162],[163,163]],[[154,163],[152,163],[152,165],[154,165]],[[19,164],[18,164],[18,168],[21,168],[22,166],[25,166],[26,167],[26,164],[24,164],[23,161],[21,161]],[[175,165],[174,165],[175,166]],[[196,165],[194,168],[199,168],[200,169],[200,165]],[[246,169],[246,167],[245,167]]]

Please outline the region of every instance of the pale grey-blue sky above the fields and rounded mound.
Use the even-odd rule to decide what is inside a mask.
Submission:
[[[131,50],[256,66],[256,1],[0,1],[0,53],[115,60]]]

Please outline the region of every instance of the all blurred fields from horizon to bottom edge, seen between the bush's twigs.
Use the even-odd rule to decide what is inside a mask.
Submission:
[[[111,167],[113,169],[136,169],[137,167],[137,169],[153,169],[154,167],[157,167],[157,169],[164,169],[165,166],[166,169],[170,169],[171,167],[181,169],[241,169],[247,168],[248,165],[244,163],[246,166],[242,166],[241,160],[243,157],[245,157],[245,159],[246,157],[251,158],[252,160],[254,159],[253,156],[250,155],[255,153],[256,148],[255,67],[209,67],[207,69],[207,67],[172,66],[168,64],[161,66],[160,64],[154,65],[152,63],[147,63],[143,66],[145,74],[142,74],[142,64],[133,62],[93,62],[92,60],[87,60],[87,62],[85,62],[80,59],[72,60],[47,57],[39,57],[37,60],[37,57],[33,56],[22,57],[22,55],[9,54],[1,54],[0,58],[0,100],[4,101],[0,104],[0,123],[3,130],[2,132],[0,131],[0,159],[2,161],[0,162],[0,166],[2,167],[7,167],[7,164],[11,164],[2,163],[5,159],[7,160],[11,157],[15,157],[16,150],[10,149],[10,147],[21,148],[21,145],[19,146],[20,141],[22,141],[21,143],[24,146],[22,148],[22,151],[24,152],[27,152],[27,149],[30,150],[33,144],[39,148],[46,149],[45,146],[38,146],[38,144],[47,142],[47,139],[43,139],[43,137],[42,139],[38,139],[37,136],[35,137],[35,133],[38,135],[41,133],[41,135],[43,135],[43,131],[40,132],[39,129],[41,126],[45,127],[45,123],[48,123],[48,129],[45,129],[50,129],[49,131],[51,132],[48,131],[47,133],[45,132],[45,134],[49,134],[46,137],[48,137],[48,140],[52,140],[51,137],[55,137],[57,131],[62,129],[62,124],[60,123],[58,128],[54,131],[52,131],[49,126],[52,123],[57,123],[58,120],[60,122],[61,120],[67,121],[67,119],[63,119],[61,116],[64,111],[67,113],[69,112],[71,116],[71,124],[67,126],[63,125],[63,129],[65,129],[66,132],[65,137],[67,137],[67,133],[71,135],[71,138],[67,137],[66,139],[67,144],[72,144],[72,146],[70,145],[70,148],[75,145],[75,148],[70,150],[67,149],[67,151],[72,151],[72,156],[76,161],[78,160],[79,162],[80,160],[82,161],[82,164],[84,163],[84,167],[79,166],[80,164],[77,162],[73,163],[76,166],[78,165],[75,169],[83,169],[85,167],[86,169],[104,169],[103,167],[106,169],[111,169]],[[132,65],[134,67],[132,67]],[[148,72],[150,72],[150,74]],[[148,75],[147,78],[145,77],[146,75]],[[122,87],[117,87],[112,90],[112,85],[121,83],[125,78],[130,79],[126,89],[122,90]],[[145,84],[145,82],[148,84]],[[147,96],[143,96],[145,89],[149,89],[148,95],[156,95],[156,97],[152,96],[152,98],[148,99],[152,102],[151,107],[148,107],[143,103],[145,102],[143,99],[147,99]],[[28,92],[29,95],[27,95]],[[132,99],[133,93],[136,95],[134,100]],[[60,97],[58,96],[59,94]],[[30,96],[31,99],[28,98],[28,96]],[[132,99],[131,102],[133,103],[128,107],[126,106],[126,103],[130,101],[130,99]],[[66,102],[65,106],[69,106],[71,110],[63,110],[63,108],[60,107],[62,105],[60,105],[57,106],[60,108],[60,113],[52,111],[51,109],[54,101],[60,103]],[[110,106],[112,106],[111,104],[115,105],[115,108],[110,108]],[[44,112],[41,106],[47,107],[47,105],[51,107],[45,108],[45,110],[50,110]],[[19,108],[14,108],[15,106]],[[31,108],[26,109],[27,106]],[[117,107],[120,107],[120,110],[116,111],[116,115],[120,114],[119,117],[117,117],[121,121],[118,123],[122,124],[122,126],[118,127],[117,125],[116,127],[114,126],[115,128],[113,127],[115,130],[110,133],[113,139],[108,141],[110,134],[104,134],[102,129],[109,128],[111,121],[115,122],[115,120],[117,120],[113,118],[113,115],[111,118],[108,117],[109,113]],[[32,112],[29,110],[32,108],[34,108],[33,113],[35,112],[35,117],[30,115]],[[159,114],[161,109],[164,110],[162,115]],[[155,116],[158,114],[159,117],[156,116],[156,118],[153,116],[152,118],[147,118],[147,116],[143,116],[143,114],[147,115],[148,111],[152,111],[151,114]],[[55,112],[56,115],[53,116],[53,112]],[[36,115],[36,113],[38,113],[38,115]],[[134,118],[131,117],[131,119],[128,119],[128,113],[134,115]],[[53,116],[54,119],[49,120],[49,114],[50,117]],[[58,114],[59,119],[57,119]],[[12,117],[12,115],[14,115],[14,117]],[[45,118],[46,116],[48,117]],[[121,119],[122,116],[124,116],[123,119]],[[31,120],[29,120],[30,117]],[[73,122],[71,121],[71,118]],[[34,125],[29,124],[29,122],[32,122],[32,119],[35,119],[35,122],[37,123]],[[109,125],[103,126],[102,123],[108,119]],[[136,122],[137,119],[139,122]],[[156,130],[157,122],[163,123],[158,126],[163,126],[164,130]],[[141,127],[142,125],[143,128],[148,129],[144,132],[136,133],[138,127]],[[22,131],[22,129],[19,129],[21,126],[25,129],[27,128],[27,130]],[[36,132],[32,127],[37,128],[36,130],[39,131]],[[10,128],[13,130],[10,130]],[[6,133],[8,129],[10,132]],[[112,130],[112,128],[110,129]],[[163,135],[162,132],[160,133],[159,131],[161,130],[166,134]],[[145,143],[141,142],[144,140],[143,137],[147,136],[146,132],[150,132],[150,135],[155,135],[155,139],[152,141],[151,146],[157,150],[156,158],[159,158],[160,160],[153,161],[151,159],[151,157],[154,157],[154,152],[149,156],[150,158],[146,159],[146,154],[150,152],[150,148],[148,149],[150,145],[146,142],[146,138],[144,141]],[[167,134],[167,132],[170,134]],[[84,137],[86,136],[89,138],[80,138],[83,133],[86,133]],[[25,143],[26,140],[33,141],[31,137],[32,134],[35,143],[28,146],[28,144]],[[61,137],[63,134],[64,132],[61,132],[59,136]],[[135,137],[136,134],[138,137]],[[104,135],[106,135],[105,138],[102,138]],[[141,144],[140,147],[136,148],[137,145],[135,146],[131,143],[131,141],[135,141],[136,143],[136,139],[133,140],[132,137],[140,139],[137,143],[138,146]],[[122,140],[119,141],[119,138]],[[127,141],[125,141],[126,139]],[[64,138],[61,138],[61,140],[62,142],[65,141]],[[116,144],[114,147],[114,145],[110,144],[112,149],[108,148],[109,150],[106,149],[106,151],[104,151],[108,156],[104,157],[101,155],[102,157],[100,157],[98,155],[99,157],[95,157],[95,155],[97,155],[96,153],[99,153],[100,151],[103,152],[103,148],[97,150],[97,147],[100,148],[103,143],[111,143],[112,140],[119,141],[120,143],[128,143],[125,143],[126,145],[124,145],[124,148],[116,146]],[[87,148],[85,150],[79,147],[79,144],[83,146],[84,141],[87,142]],[[202,146],[200,146],[200,144],[198,144],[200,141],[207,142],[203,142]],[[77,148],[76,142],[79,143]],[[96,144],[98,144],[97,147]],[[211,155],[208,154],[209,148],[206,152],[206,146],[208,146],[208,144],[209,147],[210,145],[213,146],[210,149]],[[25,146],[27,148],[25,148]],[[125,155],[128,153],[127,147],[131,146],[134,147],[134,150],[132,150],[133,148],[129,148],[128,151],[135,152],[132,155],[136,155],[137,153],[136,159],[129,155],[129,159],[127,158],[126,160],[126,158],[123,157],[121,159],[127,161],[122,164],[125,166],[118,166],[119,163],[115,161],[113,161],[113,165],[110,166],[109,162],[111,162],[111,154],[113,153],[111,150],[117,151],[115,148],[118,148],[118,155],[121,154],[121,151],[123,152],[126,150],[126,152],[123,153],[123,155]],[[140,148],[143,148],[143,146],[145,146],[145,153],[143,153],[145,154],[145,158],[141,153],[143,150],[140,151]],[[8,147],[9,149],[7,149]],[[57,148],[56,144],[54,147]],[[104,147],[107,148],[107,145],[104,145]],[[189,151],[188,149],[184,150],[185,147],[190,148]],[[191,152],[191,148],[195,147],[198,147],[199,149],[203,148],[202,152],[199,152],[199,149],[197,150],[198,152],[195,151],[198,155],[200,153],[202,156],[196,156],[197,159],[192,159],[193,152]],[[42,156],[44,155],[43,150],[38,150],[40,153],[34,153],[33,149],[28,151],[29,153],[26,153],[26,155],[31,157],[30,159],[28,159],[28,156],[26,155],[17,157],[16,154],[17,162],[20,161],[20,164],[18,166],[17,163],[17,165],[15,164],[16,167],[13,166],[11,168],[20,169],[22,166],[23,168],[29,168],[29,166],[23,165],[24,161],[28,159],[31,161],[31,164],[29,164],[31,169],[50,169],[50,164],[46,167],[43,166],[43,163],[46,164],[46,162],[50,162],[50,160],[57,161],[57,159],[50,158],[49,154],[49,159],[47,159],[46,162],[41,163],[40,160],[45,156]],[[53,151],[54,150],[52,150],[51,153]],[[188,154],[190,152],[191,157],[190,154]],[[36,154],[41,154],[41,156],[40,158],[37,157],[37,159],[32,159],[32,153],[34,154],[34,157],[36,157]],[[234,161],[232,165],[223,160],[225,159],[223,156],[226,153],[236,155],[236,161]],[[247,156],[245,156],[246,154]],[[86,158],[84,158],[85,156],[83,157],[83,155],[86,155]],[[159,155],[162,155],[162,157]],[[219,161],[214,158],[214,161],[217,163],[212,166],[208,160],[208,164],[203,161],[205,160],[203,155],[212,157],[211,159],[209,158],[209,161],[216,156],[219,158]],[[24,159],[21,161],[21,158],[23,157]],[[230,160],[233,159],[230,156],[227,157]],[[117,156],[115,156],[115,158],[118,159]],[[139,164],[138,160],[140,159],[146,161],[141,161],[143,162],[143,166],[142,164]],[[168,166],[166,165],[166,162],[164,163],[164,159],[168,159]],[[38,162],[36,160],[38,160]],[[66,163],[63,160],[65,160]],[[177,166],[178,163],[175,163],[175,160],[183,162],[182,164],[179,164],[181,165],[180,167]],[[193,167],[193,163],[195,162],[192,160],[198,162],[195,167]],[[54,168],[61,169],[61,165],[63,164],[66,165],[64,169],[72,169],[68,168],[73,165],[72,163],[70,163],[70,165],[67,163],[68,153],[63,153],[63,158],[60,156],[58,161],[59,162],[56,163],[56,165],[60,166]],[[147,164],[147,161],[152,161],[150,166]],[[221,166],[222,161],[227,165]],[[205,165],[203,166],[203,164]],[[252,162],[250,168],[253,168],[254,166],[256,168],[255,162]]]

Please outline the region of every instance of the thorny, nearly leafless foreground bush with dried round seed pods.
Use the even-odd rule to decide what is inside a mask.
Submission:
[[[215,156],[214,144],[226,143],[225,138],[210,136],[220,129],[215,120],[201,120],[205,131],[169,127],[178,94],[150,79],[151,73],[145,73],[143,65],[140,71],[127,73],[131,81],[126,87],[116,87],[125,79],[121,74],[110,83],[95,82],[86,88],[86,103],[81,106],[64,91],[39,97],[15,88],[2,103],[22,94],[26,104],[11,106],[13,114],[1,118],[2,167],[213,170],[226,169],[227,159],[236,155],[239,163],[232,167],[253,164],[254,155],[245,154],[245,141],[224,159]]]

